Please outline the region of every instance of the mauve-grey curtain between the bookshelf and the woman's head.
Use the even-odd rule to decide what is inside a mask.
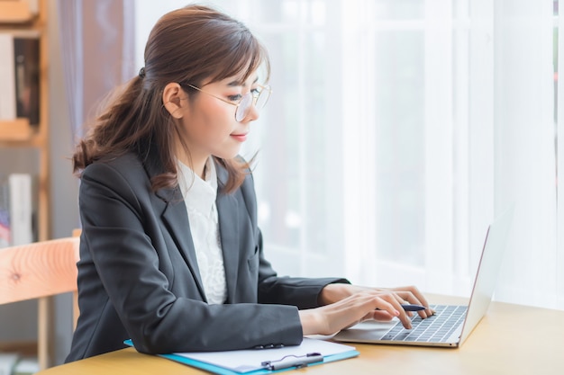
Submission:
[[[132,9],[132,0],[57,1],[73,145],[105,95],[132,76]]]

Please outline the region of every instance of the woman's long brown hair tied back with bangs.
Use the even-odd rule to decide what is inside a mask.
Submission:
[[[162,91],[170,82],[199,86],[243,74],[247,79],[269,60],[262,47],[241,22],[203,5],[188,5],[163,15],[150,31],[145,46],[145,67],[123,87],[96,118],[72,156],[73,170],[80,174],[102,156],[135,152],[141,160],[156,147],[164,173],[155,176],[153,190],[177,185],[176,156],[172,145],[183,142],[183,130],[163,107]],[[197,94],[197,93],[190,93]],[[215,157],[215,156],[214,156]],[[215,159],[229,179],[224,192],[237,189],[249,170],[239,158]]]

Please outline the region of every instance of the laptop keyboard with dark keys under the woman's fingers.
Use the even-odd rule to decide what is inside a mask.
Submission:
[[[382,340],[434,342],[448,340],[466,317],[467,306],[434,305],[435,315],[422,319],[414,313],[412,329],[405,329],[401,322],[393,326]]]

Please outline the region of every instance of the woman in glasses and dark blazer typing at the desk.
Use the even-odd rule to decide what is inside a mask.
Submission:
[[[266,76],[259,76],[265,67]],[[278,277],[257,227],[250,165],[238,157],[268,100],[265,49],[205,6],[164,15],[145,67],[73,156],[81,177],[80,317],[67,361],[300,344],[363,319],[398,317],[414,287]]]

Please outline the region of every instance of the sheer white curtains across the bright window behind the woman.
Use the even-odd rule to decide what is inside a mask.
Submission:
[[[279,273],[468,296],[487,225],[515,202],[496,299],[564,308],[551,0],[206,3],[271,54],[243,156],[259,150]],[[137,2],[137,45],[184,4]]]

